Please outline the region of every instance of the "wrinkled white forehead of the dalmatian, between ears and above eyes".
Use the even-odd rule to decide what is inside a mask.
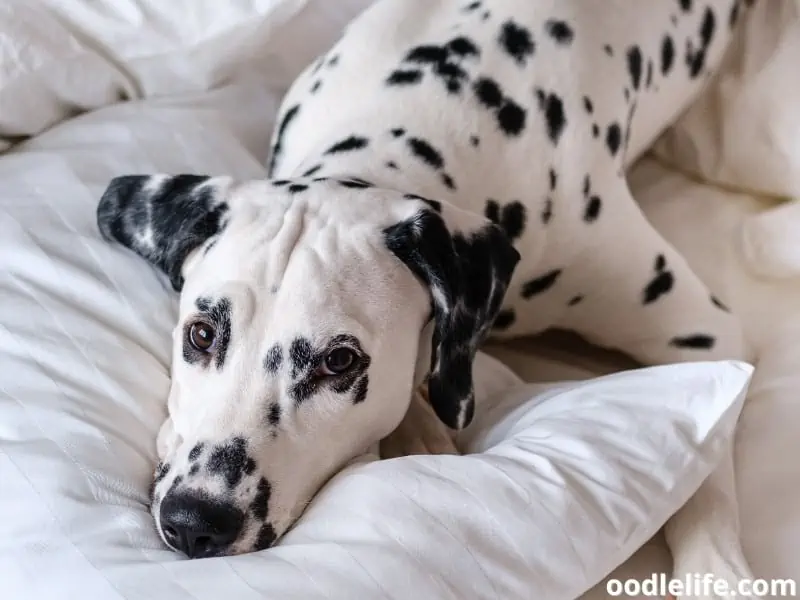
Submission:
[[[251,323],[269,311],[276,334],[302,325],[324,338],[342,328],[368,335],[412,298],[427,302],[382,233],[413,203],[335,181],[289,187],[251,182],[230,192],[224,229],[184,267],[182,315],[211,307]]]

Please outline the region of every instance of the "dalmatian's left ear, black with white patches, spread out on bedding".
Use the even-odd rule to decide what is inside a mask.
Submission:
[[[147,259],[180,291],[186,258],[225,226],[230,183],[208,175],[116,177],[97,206],[97,225],[104,238]]]

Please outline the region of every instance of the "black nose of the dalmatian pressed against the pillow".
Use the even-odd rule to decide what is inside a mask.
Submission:
[[[189,558],[218,556],[239,536],[244,513],[230,503],[197,494],[167,494],[161,530],[170,546]]]

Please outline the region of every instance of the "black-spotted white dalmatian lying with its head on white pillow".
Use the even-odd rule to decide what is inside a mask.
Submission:
[[[114,179],[100,230],[181,292],[163,540],[273,545],[423,382],[430,418],[468,426],[490,335],[568,326],[648,364],[738,357],[735,318],[624,172],[745,9],[379,0],[288,91],[267,179]]]

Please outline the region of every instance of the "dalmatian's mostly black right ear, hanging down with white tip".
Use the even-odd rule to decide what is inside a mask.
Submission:
[[[439,419],[463,429],[475,409],[472,363],[500,310],[520,255],[496,225],[480,219],[470,233],[451,232],[438,203],[384,230],[384,240],[425,285],[434,321],[428,397]],[[453,221],[475,221],[451,211]]]

